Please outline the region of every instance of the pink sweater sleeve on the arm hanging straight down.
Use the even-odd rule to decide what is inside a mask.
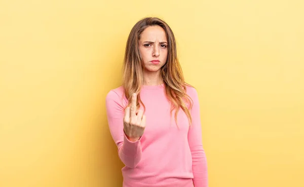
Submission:
[[[207,187],[207,159],[202,143],[202,127],[198,93],[195,88],[190,87],[188,89],[189,96],[193,100],[193,107],[191,109],[192,126],[189,127],[188,131],[188,143],[192,154],[193,182],[195,187]]]

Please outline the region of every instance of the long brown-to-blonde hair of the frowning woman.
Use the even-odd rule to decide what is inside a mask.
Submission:
[[[161,26],[167,36],[168,40],[168,57],[167,62],[161,68],[161,76],[164,80],[166,96],[171,102],[171,115],[175,109],[175,122],[177,124],[177,114],[181,108],[186,114],[189,125],[192,124],[192,118],[189,109],[193,106],[191,97],[186,94],[186,86],[193,87],[184,82],[181,66],[177,59],[176,42],[174,34],[169,25],[155,17],[147,17],[138,21],[132,28],[126,46],[124,64],[123,64],[123,88],[124,94],[131,103],[132,93],[137,94],[137,109],[140,104],[144,107],[140,99],[140,89],[143,85],[143,63],[139,51],[140,34],[148,26],[159,25]],[[192,101],[192,102],[191,102]],[[187,107],[187,104],[189,108]]]

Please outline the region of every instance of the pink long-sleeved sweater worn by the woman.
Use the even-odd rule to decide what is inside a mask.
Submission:
[[[207,187],[207,162],[196,89],[187,87],[187,94],[194,101],[192,127],[180,109],[178,128],[175,110],[170,119],[170,103],[164,85],[143,86],[140,98],[146,107],[146,128],[136,142],[129,141],[123,131],[124,109],[128,103],[127,98],[122,97],[123,92],[121,86],[106,96],[110,133],[126,165],[122,169],[123,187]]]

